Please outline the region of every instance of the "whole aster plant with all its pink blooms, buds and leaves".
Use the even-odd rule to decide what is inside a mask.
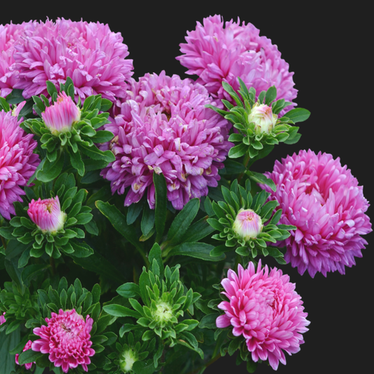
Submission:
[[[278,48],[220,15],[187,34],[196,81],[135,80],[107,25],[0,25],[0,374],[276,370],[309,321],[265,262],[361,257],[368,201],[339,159],[252,170],[309,117]]]

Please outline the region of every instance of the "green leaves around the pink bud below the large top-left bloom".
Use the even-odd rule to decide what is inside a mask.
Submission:
[[[58,91],[52,82],[47,81],[46,84],[52,103],[54,103],[58,98]],[[74,84],[69,77],[65,84],[60,84],[60,92],[62,91],[74,100]],[[41,95],[40,98],[38,96],[32,98],[35,102],[34,110],[41,117],[41,113],[49,106],[49,101],[44,95]],[[79,98],[80,121],[74,123],[70,131],[60,133],[58,136],[51,133],[41,118],[24,121],[21,125],[22,128],[40,137],[41,154],[44,158],[36,169],[36,178],[42,182],[49,182],[57,178],[62,171],[67,155],[69,156],[67,163],[70,163],[81,176],[87,171],[105,168],[109,162],[114,161],[115,157],[112,152],[101,151],[94,144],[108,142],[114,136],[110,131],[98,130],[108,123],[109,113],[105,113],[105,111],[111,106],[112,102],[102,99],[101,95],[89,96],[84,100],[83,107],[81,107]]]

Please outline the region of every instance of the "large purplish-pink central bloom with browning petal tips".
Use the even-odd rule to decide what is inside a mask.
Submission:
[[[102,146],[112,149],[116,161],[102,171],[112,192],[131,187],[125,206],[140,201],[147,192],[154,208],[153,173],[163,173],[167,196],[175,209],[194,197],[206,196],[216,187],[232,143],[227,141],[228,122],[205,106],[215,105],[206,88],[190,79],[146,74],[132,82],[129,98],[108,131],[114,140]]]

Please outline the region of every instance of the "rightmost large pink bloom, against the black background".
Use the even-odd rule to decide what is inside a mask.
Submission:
[[[361,235],[372,231],[365,214],[368,201],[347,166],[309,149],[276,161],[274,171],[265,175],[276,184],[276,192],[262,188],[279,202],[280,222],[297,227],[286,239],[285,260],[312,277],[336,270],[345,274],[345,266],[362,257],[367,242]]]

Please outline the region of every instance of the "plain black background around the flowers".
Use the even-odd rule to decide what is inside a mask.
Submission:
[[[304,2],[229,1],[225,6],[205,6],[199,2],[145,3],[133,1],[104,1],[100,6],[93,1],[82,5],[77,1],[49,1],[48,4],[20,2],[1,4],[0,23],[51,20],[57,17],[88,22],[108,23],[114,32],[121,32],[133,59],[134,77],[147,72],[180,74],[185,67],[175,60],[180,55],[179,44],[185,41],[186,31],[196,27],[208,15],[220,14],[224,20],[252,22],[276,44],[282,57],[289,63],[298,89],[298,107],[312,112],[300,125],[302,138],[296,145],[279,145],[255,171],[272,171],[274,161],[299,149],[312,149],[340,157],[352,174],[364,186],[368,201],[373,202],[369,187],[373,173],[373,153],[370,142],[373,127],[373,106],[369,87],[373,84],[372,65],[368,51],[368,16],[354,3],[353,8],[326,8],[327,3],[305,5]],[[152,4],[152,5],[148,5]],[[178,4],[178,5],[176,5]],[[211,3],[215,4],[215,3]],[[295,4],[292,6],[292,4]],[[300,5],[303,4],[303,5]],[[233,6],[230,10],[229,7]],[[56,10],[56,8],[60,10]],[[370,35],[372,32],[370,30]],[[370,48],[370,49],[369,49]],[[373,208],[368,214],[373,215]],[[305,333],[305,344],[293,356],[286,355],[287,364],[279,364],[278,373],[314,372],[366,373],[373,349],[373,234],[363,258],[356,266],[346,269],[345,275],[330,273],[327,278],[316,274],[300,276],[289,265],[283,272],[304,300],[305,311],[311,321]],[[371,274],[370,274],[371,273]],[[370,302],[370,305],[369,305]],[[370,309],[369,309],[370,308]],[[244,364],[236,367],[234,359],[225,357],[213,363],[204,373],[246,373]],[[265,365],[256,373],[272,373]],[[178,373],[175,373],[178,374]]]

